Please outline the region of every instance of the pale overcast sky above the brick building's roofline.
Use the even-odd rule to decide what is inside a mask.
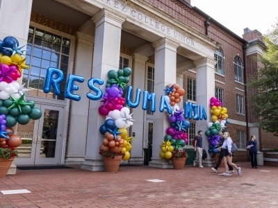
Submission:
[[[243,37],[244,28],[265,34],[278,18],[277,0],[191,0],[191,6],[196,6],[240,37]]]

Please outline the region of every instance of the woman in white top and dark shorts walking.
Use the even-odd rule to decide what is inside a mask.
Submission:
[[[233,141],[231,140],[231,137],[228,132],[224,132],[224,142],[223,145],[218,148],[218,151],[222,148],[224,150],[224,164],[225,164],[225,169],[226,172],[222,173],[222,175],[229,175],[229,166],[227,162],[229,163],[230,166],[233,166],[236,168],[238,171],[238,175],[241,173],[241,168],[238,168],[234,163],[231,162],[232,155],[231,153],[231,144],[233,144]]]

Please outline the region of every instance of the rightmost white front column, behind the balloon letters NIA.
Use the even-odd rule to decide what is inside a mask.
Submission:
[[[208,130],[208,123],[211,121],[209,106],[211,97],[215,96],[215,79],[214,79],[214,58],[202,58],[194,62],[196,65],[196,101],[197,105],[203,105],[206,115],[208,116],[207,120],[198,120],[196,122],[196,135],[198,130],[203,132],[203,148],[208,153],[208,139],[204,132]],[[199,113],[199,109],[198,109]],[[211,155],[208,154],[208,158],[202,161],[203,166],[214,166],[215,163],[211,158]]]

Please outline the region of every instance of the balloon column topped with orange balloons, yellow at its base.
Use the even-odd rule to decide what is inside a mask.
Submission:
[[[169,114],[168,121],[170,127],[167,128],[164,141],[161,144],[161,152],[159,156],[161,158],[170,159],[172,157],[172,151],[182,148],[188,144],[188,135],[186,130],[190,128],[190,122],[186,121],[183,117],[183,110],[179,109],[177,105],[181,101],[184,89],[179,85],[167,85],[165,87],[165,98],[172,108],[172,114]]]

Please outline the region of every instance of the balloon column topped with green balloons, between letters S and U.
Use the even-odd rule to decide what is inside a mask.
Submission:
[[[124,154],[123,160],[130,157],[129,151],[132,137],[127,137],[127,130],[133,125],[132,114],[128,107],[123,107],[125,99],[122,98],[126,84],[129,83],[131,69],[129,67],[108,71],[106,93],[102,97],[104,104],[99,107],[99,114],[106,116],[106,121],[99,128],[104,135],[99,150],[111,150],[114,153]]]

